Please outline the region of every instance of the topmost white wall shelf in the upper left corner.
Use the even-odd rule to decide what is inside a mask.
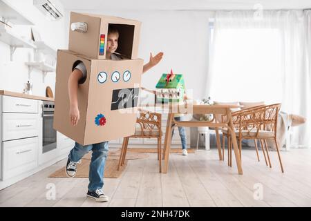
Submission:
[[[16,25],[34,25],[32,21],[27,19],[22,12],[19,12],[13,6],[10,6],[7,0],[0,0],[0,17],[4,21],[10,21]]]

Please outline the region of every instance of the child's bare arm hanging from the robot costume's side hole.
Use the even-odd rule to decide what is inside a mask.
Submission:
[[[79,69],[73,70],[68,79],[68,94],[70,101],[70,122],[73,126],[79,121],[79,108],[77,102],[77,88],[79,79],[83,77],[82,71]]]

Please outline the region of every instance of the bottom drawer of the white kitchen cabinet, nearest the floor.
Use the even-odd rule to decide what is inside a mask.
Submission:
[[[38,137],[2,142],[3,180],[37,167]]]

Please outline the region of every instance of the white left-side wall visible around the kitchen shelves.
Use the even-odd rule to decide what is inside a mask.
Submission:
[[[55,49],[66,48],[64,18],[59,21],[49,21],[32,5],[32,0],[10,0],[8,2],[35,23],[33,27],[47,44]],[[20,36],[30,39],[30,27],[14,26],[13,28]],[[24,83],[28,80],[28,67],[24,63],[32,59],[32,49],[17,48],[13,60],[10,61],[10,46],[0,41],[0,90],[22,93]],[[34,69],[30,75],[30,82],[33,83],[34,95],[45,97],[46,86],[50,86],[55,93],[55,73],[48,73],[43,82],[41,71]]]

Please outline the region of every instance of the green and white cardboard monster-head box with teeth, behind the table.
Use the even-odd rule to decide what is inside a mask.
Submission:
[[[185,82],[182,75],[175,75],[173,70],[169,74],[162,74],[156,85],[157,102],[180,102],[185,95]]]

